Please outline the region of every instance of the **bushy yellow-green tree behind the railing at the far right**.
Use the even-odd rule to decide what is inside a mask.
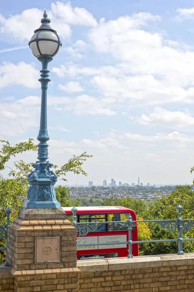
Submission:
[[[194,216],[194,192],[189,185],[178,185],[174,191],[168,196],[162,196],[161,199],[154,202],[148,209],[149,219],[177,219],[177,206],[180,204],[183,209],[181,217],[190,219]],[[151,232],[151,240],[160,239],[177,239],[177,232],[170,232],[168,229],[161,228],[157,223],[149,223]],[[183,237],[194,237],[194,231],[183,232]],[[160,254],[177,254],[178,242],[154,242],[146,243],[141,246],[144,255],[160,255]],[[184,252],[193,252],[194,244],[191,241],[183,242]]]

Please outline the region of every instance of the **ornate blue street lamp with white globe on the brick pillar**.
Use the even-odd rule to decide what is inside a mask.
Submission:
[[[38,144],[38,161],[32,165],[35,170],[28,175],[30,187],[27,201],[24,202],[23,207],[60,208],[61,205],[56,199],[54,189],[57,175],[50,170],[53,164],[48,161],[47,88],[50,81],[48,64],[52,61],[52,57],[57,55],[62,43],[57,32],[50,27],[50,19],[46,11],[41,22],[40,28],[34,31],[29,42],[32,54],[42,63],[41,78],[39,79],[42,89],[40,130],[37,137],[40,143]]]

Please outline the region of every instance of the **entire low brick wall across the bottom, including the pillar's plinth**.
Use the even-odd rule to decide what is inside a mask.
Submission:
[[[194,292],[194,254],[82,260],[63,271],[10,270],[0,266],[0,292],[13,292],[14,281],[17,292]]]

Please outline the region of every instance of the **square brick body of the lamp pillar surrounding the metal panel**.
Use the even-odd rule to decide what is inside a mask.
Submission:
[[[36,224],[36,225],[35,225]],[[60,237],[60,263],[52,268],[76,267],[76,229],[68,220],[15,219],[8,227],[8,262],[16,271],[49,269],[50,264],[35,263],[35,237]]]

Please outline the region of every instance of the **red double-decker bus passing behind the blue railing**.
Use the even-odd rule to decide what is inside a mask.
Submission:
[[[114,223],[115,221],[127,221],[129,214],[136,220],[133,210],[120,206],[95,206],[76,207],[77,222],[111,222],[101,223],[95,232],[89,232],[86,236],[78,234],[77,244],[84,246],[77,247],[78,259],[107,258],[128,256],[129,245],[118,244],[129,240],[128,227],[124,223]],[[72,207],[63,207],[67,219],[72,221]],[[132,241],[138,240],[137,226],[132,229]],[[92,243],[105,243],[103,245],[88,245]],[[106,243],[113,243],[106,244]],[[132,244],[132,255],[139,256],[138,244]]]

